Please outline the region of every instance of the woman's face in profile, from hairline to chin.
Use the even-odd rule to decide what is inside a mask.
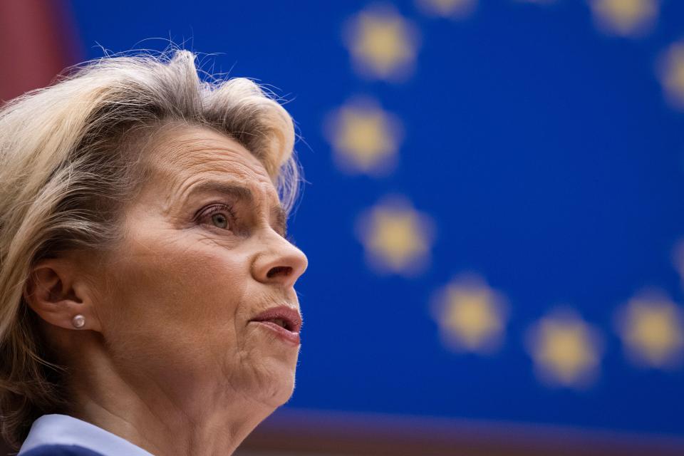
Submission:
[[[172,395],[206,388],[215,401],[239,393],[281,405],[298,337],[253,320],[281,306],[299,314],[294,283],[307,259],[284,237],[269,175],[206,128],[167,131],[149,153],[155,171],[125,209],[96,306],[109,356]]]

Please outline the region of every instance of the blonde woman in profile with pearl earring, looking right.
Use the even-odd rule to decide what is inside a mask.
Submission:
[[[229,455],[294,389],[291,117],[189,51],[0,108],[0,413],[19,455]]]

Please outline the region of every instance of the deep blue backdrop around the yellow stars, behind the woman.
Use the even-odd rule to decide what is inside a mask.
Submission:
[[[463,21],[395,1],[423,37],[404,83],[361,78],[343,22],[367,1],[74,0],[86,58],[168,39],[209,71],[275,86],[303,140],[306,180],[291,219],[309,257],[298,282],[306,324],[288,407],[556,423],[684,436],[684,371],[638,368],[613,330],[644,286],[683,301],[672,249],[684,237],[684,114],[663,98],[655,58],[684,33],[684,4],[663,4],[643,38],[596,29],[580,1],[481,1]],[[161,38],[140,41],[142,38]],[[323,119],[373,95],[405,128],[396,170],[348,175]],[[435,220],[432,264],[413,279],[368,268],[353,227],[388,193]],[[460,271],[507,296],[494,356],[447,350],[428,300]],[[556,304],[601,328],[601,375],[549,388],[523,336]]]

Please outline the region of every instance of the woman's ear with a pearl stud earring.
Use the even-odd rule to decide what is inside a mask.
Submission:
[[[33,267],[24,299],[38,316],[54,326],[101,332],[90,286],[73,261],[45,259]],[[79,315],[83,317],[83,326],[78,324],[81,317],[74,319]]]

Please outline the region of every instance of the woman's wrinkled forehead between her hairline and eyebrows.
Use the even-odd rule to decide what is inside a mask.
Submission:
[[[207,181],[241,185],[254,199],[280,206],[278,192],[257,157],[227,135],[199,126],[174,126],[152,138],[150,162],[157,196],[165,195],[165,207],[185,197]]]

